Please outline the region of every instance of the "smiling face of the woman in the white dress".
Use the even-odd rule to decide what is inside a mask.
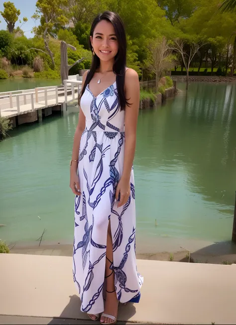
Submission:
[[[94,52],[102,61],[110,61],[118,53],[118,40],[113,24],[107,20],[100,21],[93,37],[90,36]]]

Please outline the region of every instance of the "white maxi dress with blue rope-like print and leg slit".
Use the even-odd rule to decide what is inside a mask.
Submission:
[[[104,312],[103,287],[109,220],[113,239],[115,288],[121,303],[139,302],[143,278],[135,258],[135,192],[133,170],[130,197],[118,208],[115,194],[124,160],[124,111],[120,110],[117,83],[97,97],[89,85],[81,98],[86,117],[78,174],[81,196],[75,197],[73,276],[81,310]]]

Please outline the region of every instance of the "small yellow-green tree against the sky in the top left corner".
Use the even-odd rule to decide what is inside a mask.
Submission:
[[[7,29],[9,30],[10,33],[13,33],[13,30],[15,28],[15,23],[19,18],[20,15],[20,10],[16,9],[15,5],[13,2],[4,2],[3,3],[4,10],[0,11],[0,14],[4,18],[6,24],[7,24]],[[26,17],[23,17],[23,23],[26,22],[28,19]],[[21,23],[21,21],[20,21]],[[22,26],[22,25],[21,25]]]

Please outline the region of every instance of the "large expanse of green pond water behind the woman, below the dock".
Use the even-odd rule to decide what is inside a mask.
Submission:
[[[231,239],[236,190],[236,85],[192,83],[139,112],[137,234]],[[78,113],[22,125],[0,143],[0,238],[73,240],[69,161]],[[41,219],[39,219],[39,217]],[[155,220],[157,226],[155,226]]]

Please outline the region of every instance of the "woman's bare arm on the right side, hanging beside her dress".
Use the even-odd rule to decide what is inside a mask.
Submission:
[[[124,163],[123,172],[118,182],[116,199],[120,193],[118,207],[125,204],[130,195],[130,174],[133,165],[133,159],[136,146],[136,129],[139,110],[139,80],[138,74],[132,69],[125,72],[125,97],[129,103],[125,107],[125,145],[124,145]]]

